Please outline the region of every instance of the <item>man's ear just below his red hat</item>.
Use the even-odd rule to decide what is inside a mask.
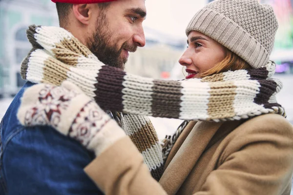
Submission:
[[[93,4],[73,4],[73,14],[81,23],[88,25],[92,17]]]

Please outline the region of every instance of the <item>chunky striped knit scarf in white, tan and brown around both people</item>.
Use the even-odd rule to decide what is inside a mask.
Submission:
[[[143,78],[106,66],[69,32],[58,27],[30,26],[33,49],[21,65],[23,79],[79,86],[104,110],[121,115],[122,128],[158,179],[163,159],[158,138],[144,116],[185,120],[240,120],[262,114],[285,116],[276,102],[282,83],[273,79],[275,64],[228,71],[202,79],[166,81]]]

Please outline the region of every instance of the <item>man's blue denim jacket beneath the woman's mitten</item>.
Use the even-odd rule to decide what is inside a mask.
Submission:
[[[48,126],[20,124],[21,97],[32,85],[22,87],[0,123],[0,195],[103,194],[84,173],[92,153]]]

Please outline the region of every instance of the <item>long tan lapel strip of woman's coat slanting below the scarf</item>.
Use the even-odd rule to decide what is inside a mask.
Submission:
[[[177,140],[179,143],[175,144],[172,150],[178,150],[178,152],[174,154],[171,151],[170,155],[174,157],[171,160],[167,160],[168,166],[160,179],[160,184],[168,195],[177,193],[209,141],[222,124],[222,122],[197,122],[190,133],[186,132],[184,136],[180,137],[181,141]],[[183,141],[183,139],[185,140]],[[182,145],[180,142],[183,142]]]

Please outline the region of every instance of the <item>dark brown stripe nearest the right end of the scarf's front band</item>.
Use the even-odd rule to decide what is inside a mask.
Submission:
[[[273,80],[258,80],[260,84],[259,93],[256,94],[254,102],[261,105],[269,101],[272,94],[276,92],[277,83]]]

